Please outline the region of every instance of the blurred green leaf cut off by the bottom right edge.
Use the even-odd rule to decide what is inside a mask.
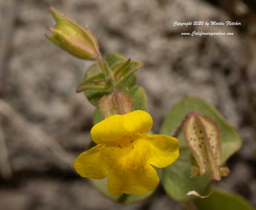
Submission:
[[[194,202],[198,210],[253,210],[243,197],[222,189],[215,189],[208,198],[195,199]]]

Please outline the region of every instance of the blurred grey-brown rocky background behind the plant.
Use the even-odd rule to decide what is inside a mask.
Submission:
[[[148,95],[154,132],[186,95],[217,107],[244,142],[219,185],[256,206],[255,1],[1,0],[1,210],[181,209],[161,186],[138,204],[113,203],[75,173],[72,162],[90,143],[94,110],[75,91],[92,63],[46,39],[46,28],[55,24],[49,4],[88,27],[103,55],[117,52],[144,62],[137,83]],[[242,25],[173,26],[212,20]],[[192,31],[234,35],[180,35]]]

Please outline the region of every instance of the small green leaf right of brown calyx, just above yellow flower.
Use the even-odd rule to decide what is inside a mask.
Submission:
[[[147,109],[147,95],[141,86],[135,86],[128,91],[132,95],[134,110]]]

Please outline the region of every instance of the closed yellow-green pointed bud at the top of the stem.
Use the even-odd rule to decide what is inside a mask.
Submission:
[[[94,60],[100,56],[99,46],[95,36],[84,27],[70,20],[50,7],[57,25],[49,28],[52,35],[46,37],[71,55],[84,60]]]

